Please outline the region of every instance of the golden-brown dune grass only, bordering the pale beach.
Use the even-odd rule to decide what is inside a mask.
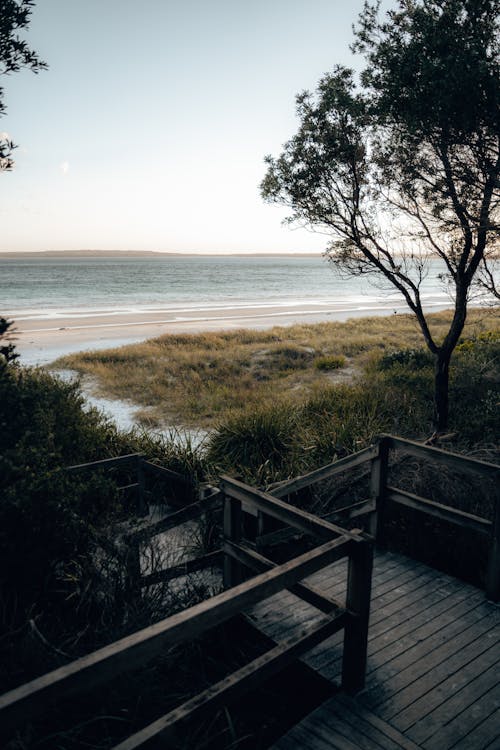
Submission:
[[[439,338],[450,314],[430,317]],[[471,310],[464,336],[498,327],[493,310]],[[55,367],[92,376],[100,394],[139,407],[148,426],[213,427],[242,410],[301,403],[332,383],[352,381],[369,362],[422,346],[412,315],[165,335],[140,344],[73,354]],[[335,363],[335,367],[325,363]]]

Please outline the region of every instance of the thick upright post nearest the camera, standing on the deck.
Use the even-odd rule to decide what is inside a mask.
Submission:
[[[346,595],[348,620],[344,628],[342,660],[342,687],[348,693],[357,693],[365,684],[373,546],[372,539],[364,538],[352,542],[349,554]]]

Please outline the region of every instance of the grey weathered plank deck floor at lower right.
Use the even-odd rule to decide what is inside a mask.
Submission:
[[[307,579],[343,601],[345,561]],[[276,640],[323,615],[282,592],[252,610]],[[303,659],[340,678],[342,635]],[[484,592],[393,553],[377,552],[372,585],[366,687],[336,694],[300,722],[275,750],[498,750],[500,606]]]

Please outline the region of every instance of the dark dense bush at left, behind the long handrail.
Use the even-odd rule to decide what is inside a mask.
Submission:
[[[126,550],[116,544],[121,525],[135,514],[134,498],[118,494],[117,483],[135,477],[127,470],[70,474],[65,467],[142,452],[196,475],[199,457],[186,446],[119,433],[84,404],[76,383],[3,358],[0,691],[197,597],[188,585],[179,592],[166,586],[135,607],[124,576]],[[148,554],[160,565],[168,551]]]

